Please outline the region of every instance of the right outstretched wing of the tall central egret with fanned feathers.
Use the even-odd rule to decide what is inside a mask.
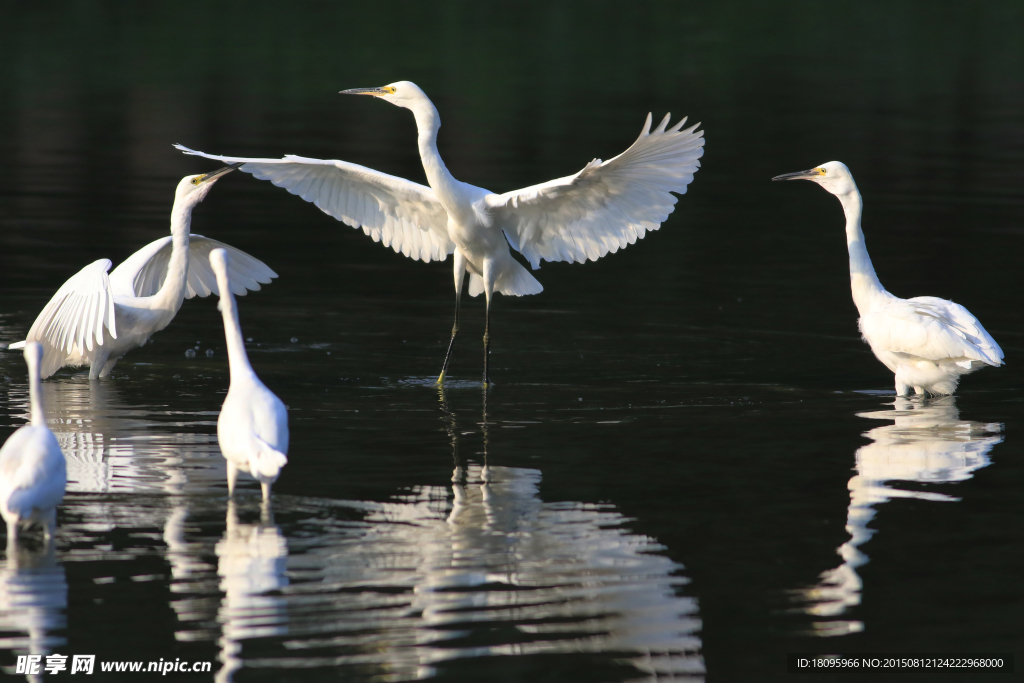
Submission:
[[[504,195],[484,208],[534,268],[547,261],[596,261],[656,230],[693,181],[703,131],[669,115],[653,131],[647,115],[640,137],[614,159],[595,159],[575,175]],[[699,124],[697,124],[699,125]]]

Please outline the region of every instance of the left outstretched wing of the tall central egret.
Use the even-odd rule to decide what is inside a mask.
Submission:
[[[240,171],[312,202],[329,216],[361,227],[374,242],[410,258],[443,261],[455,251],[447,236],[447,212],[430,187],[337,160],[218,157],[174,146],[206,159],[243,162]]]

